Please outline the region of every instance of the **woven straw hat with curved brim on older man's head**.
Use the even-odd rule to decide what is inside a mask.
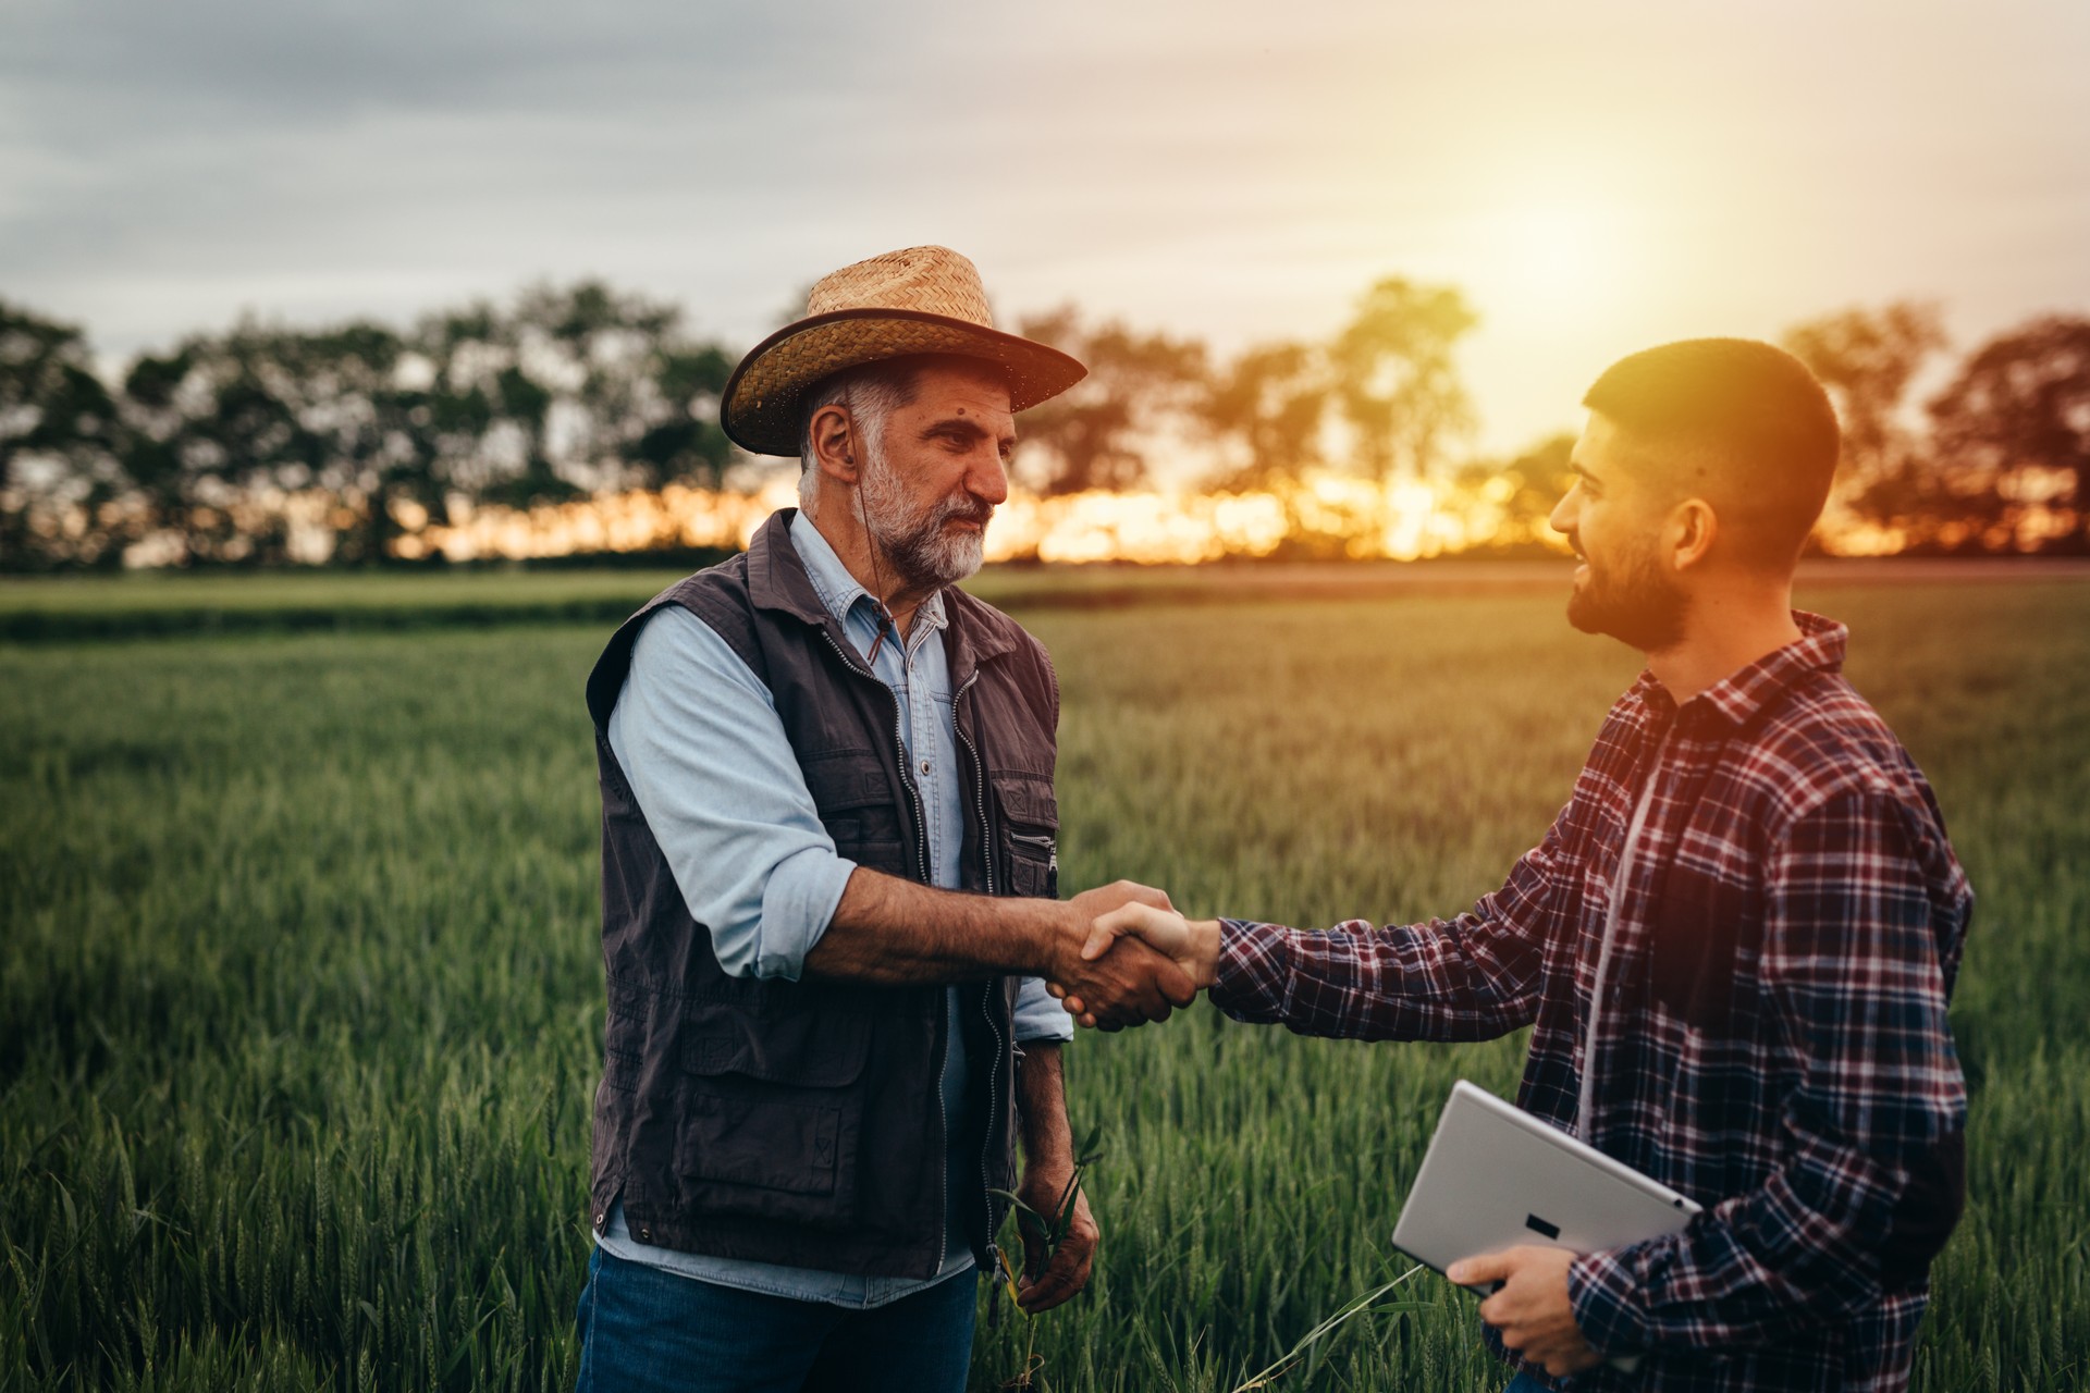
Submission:
[[[911,353],[957,353],[1001,368],[1009,409],[1035,407],[1089,370],[1041,343],[1003,334],[972,261],[949,246],[909,246],[821,276],[805,317],[740,359],[719,424],[757,455],[796,455],[805,393],[844,368]]]

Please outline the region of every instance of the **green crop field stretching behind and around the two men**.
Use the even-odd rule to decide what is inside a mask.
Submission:
[[[1917,1383],[2090,1389],[2090,585],[1804,599],[1852,620],[1852,675],[1981,896],[1954,1005],[1973,1201]],[[1028,622],[1066,687],[1066,883],[1290,923],[1499,883],[1632,677],[1557,595]],[[571,1387],[602,637],[0,647],[0,1393]],[[1049,1387],[1225,1393],[1402,1270],[1388,1234],[1450,1080],[1509,1090],[1519,1053],[1206,1007],[1085,1036],[1106,1236],[1091,1295],[1039,1322]],[[1400,1295],[1277,1387],[1501,1387],[1467,1297]],[[976,1389],[1024,1337],[1003,1303]]]

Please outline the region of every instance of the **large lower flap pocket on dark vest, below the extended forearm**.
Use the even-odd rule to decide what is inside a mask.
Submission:
[[[683,1207],[813,1228],[855,1224],[867,1055],[863,1015],[692,1011],[675,1147]]]

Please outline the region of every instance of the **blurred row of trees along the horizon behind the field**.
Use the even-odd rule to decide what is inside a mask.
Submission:
[[[1315,470],[1457,478],[1536,537],[1570,436],[1473,457],[1455,286],[1386,278],[1325,340],[1231,357],[1064,307],[1018,332],[1089,363],[1022,420],[1018,478],[1041,495],[1133,489],[1160,457],[1214,491]],[[1785,334],[1843,422],[1837,505],[1929,553],[2090,549],[2090,320],[2042,315],[1988,340],[1923,403],[1935,307],[1845,309]],[[757,478],[717,424],[738,353],[677,307],[600,282],[474,301],[408,328],[240,320],[102,374],[77,326],[0,301],[0,570],[382,564],[468,507]]]

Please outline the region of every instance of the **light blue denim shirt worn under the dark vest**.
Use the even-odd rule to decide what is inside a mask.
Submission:
[[[805,514],[792,520],[792,545],[821,604],[869,662],[878,610]],[[872,672],[901,706],[901,737],[922,792],[930,877],[953,890],[966,837],[951,670],[943,650],[943,595],[915,612],[905,647],[878,645]],[[679,606],[665,608],[631,650],[631,670],[610,710],[610,752],[625,771],[646,825],[690,904],[711,927],[725,971],[796,979],[805,954],[834,919],[855,863],[836,854],[798,773],[769,689],[709,624]],[[943,1109],[953,1117],[966,1096],[966,1046],[957,1030],[959,994],[947,994],[949,1046]],[[1072,1021],[1045,984],[1026,977],[1016,1000],[1016,1038],[1070,1040]],[[947,1136],[966,1128],[949,1126]],[[945,1157],[947,1174],[968,1174],[970,1157]],[[614,1205],[600,1243],[606,1253],[706,1282],[798,1301],[884,1305],[972,1268],[963,1238],[968,1184],[947,1186],[943,1270],[928,1280],[853,1276],[809,1268],[706,1257],[644,1245]]]

